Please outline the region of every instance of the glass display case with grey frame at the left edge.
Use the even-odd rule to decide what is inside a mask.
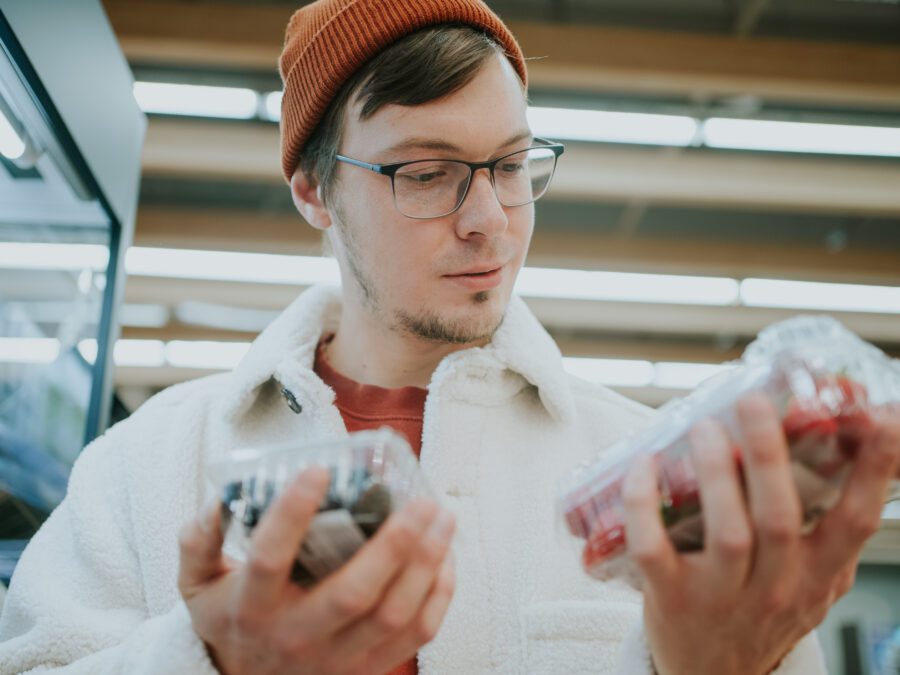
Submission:
[[[97,0],[0,0],[0,580],[106,428],[146,119]]]

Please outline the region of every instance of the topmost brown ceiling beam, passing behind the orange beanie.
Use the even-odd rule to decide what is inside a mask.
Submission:
[[[751,0],[753,2],[753,0]],[[105,0],[133,63],[275,72],[293,7]],[[507,22],[532,86],[900,109],[900,47]]]

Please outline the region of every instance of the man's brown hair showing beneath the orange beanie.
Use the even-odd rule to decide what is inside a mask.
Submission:
[[[322,187],[328,205],[334,197],[335,155],[346,110],[362,102],[360,120],[386,105],[421,105],[467,85],[503,47],[471,26],[444,24],[410,33],[368,61],[344,83],[309,137],[300,169]]]

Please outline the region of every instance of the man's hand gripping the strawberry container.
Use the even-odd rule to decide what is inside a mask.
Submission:
[[[838,503],[801,535],[800,498],[778,415],[761,394],[738,405],[743,480],[732,442],[706,421],[691,432],[704,550],[678,553],[660,518],[649,461],[625,480],[628,552],[644,578],[644,626],[660,675],[765,675],[853,585],[900,470],[900,415],[875,416]]]

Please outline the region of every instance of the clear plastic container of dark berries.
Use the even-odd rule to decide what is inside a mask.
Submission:
[[[301,586],[341,567],[410,500],[434,500],[406,439],[388,428],[341,440],[237,449],[207,465],[222,500],[227,555],[246,560],[266,509],[311,466],[327,468],[331,483],[297,552],[291,577]]]

